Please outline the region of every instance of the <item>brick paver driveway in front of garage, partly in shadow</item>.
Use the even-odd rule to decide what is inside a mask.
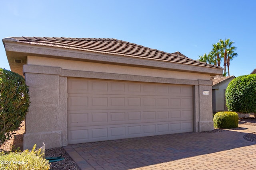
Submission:
[[[256,143],[246,133],[256,126],[218,133],[179,133],[68,145],[64,149],[84,169],[256,169]]]

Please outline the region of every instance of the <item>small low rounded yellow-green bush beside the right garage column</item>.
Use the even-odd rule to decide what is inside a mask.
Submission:
[[[238,127],[238,114],[232,111],[221,111],[213,117],[214,127],[230,129]]]

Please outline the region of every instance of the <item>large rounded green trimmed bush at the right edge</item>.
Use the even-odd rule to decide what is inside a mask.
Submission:
[[[228,84],[226,106],[229,111],[256,112],[256,74],[239,76]]]

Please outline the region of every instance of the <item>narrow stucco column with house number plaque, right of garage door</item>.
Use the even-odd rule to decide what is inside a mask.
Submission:
[[[198,80],[198,107],[198,131],[213,130],[212,81],[210,80]]]

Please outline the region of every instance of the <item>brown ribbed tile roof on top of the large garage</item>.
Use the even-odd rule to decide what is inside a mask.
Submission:
[[[64,38],[64,37],[10,37],[18,43],[29,43],[48,47],[60,47],[88,52],[138,57],[144,59],[168,61],[172,63],[204,66],[208,68],[221,68],[192,60],[180,52],[166,53],[157,49],[150,49],[142,45],[111,38]]]

